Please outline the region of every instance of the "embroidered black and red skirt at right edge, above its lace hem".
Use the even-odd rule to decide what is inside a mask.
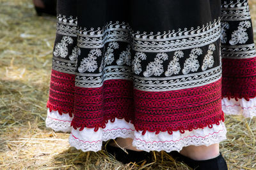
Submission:
[[[248,1],[224,1],[221,11],[222,97],[256,97],[256,51]]]

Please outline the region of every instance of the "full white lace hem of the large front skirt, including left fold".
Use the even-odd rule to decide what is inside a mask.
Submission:
[[[102,141],[108,141],[115,138],[132,138],[132,145],[140,150],[150,152],[152,150],[171,152],[182,150],[184,146],[189,145],[212,145],[220,143],[226,139],[227,130],[225,124],[220,122],[220,125],[212,125],[212,128],[205,127],[204,129],[196,129],[193,131],[185,131],[184,134],[179,131],[173,132],[172,135],[168,132],[146,132],[142,135],[142,131],[135,131],[133,124],[126,122],[124,119],[116,118],[115,122],[108,122],[104,129],[99,128],[97,132],[93,128],[84,128],[79,131],[79,128],[70,127],[72,118],[68,114],[60,115],[58,111],[48,112],[46,124],[54,131],[70,132],[69,143],[71,146],[82,150],[83,152],[97,152],[102,149]]]

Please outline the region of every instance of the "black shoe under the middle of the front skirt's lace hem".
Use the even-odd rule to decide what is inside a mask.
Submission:
[[[145,162],[145,164],[148,164],[151,162],[151,154],[149,152],[145,151],[134,151],[134,150],[128,150],[125,149],[122,150],[122,148],[116,147],[116,146],[111,146],[108,144],[106,145],[106,151],[113,155],[116,160],[119,162],[122,162],[123,164],[128,164],[130,162],[135,162],[136,164],[141,164]]]

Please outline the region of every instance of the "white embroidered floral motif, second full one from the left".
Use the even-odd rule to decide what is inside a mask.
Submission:
[[[95,59],[97,59],[97,57],[100,55],[100,49],[92,49],[90,53],[88,53],[88,57],[81,61],[81,65],[78,67],[78,71],[80,73],[84,73],[84,71],[95,71],[97,69],[97,61]]]

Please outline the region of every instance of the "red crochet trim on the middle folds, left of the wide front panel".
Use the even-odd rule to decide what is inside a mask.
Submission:
[[[115,118],[124,118],[127,122],[134,120],[133,84],[128,80],[106,80],[102,87],[75,87],[74,118],[71,125],[80,127],[106,127],[115,122]]]

